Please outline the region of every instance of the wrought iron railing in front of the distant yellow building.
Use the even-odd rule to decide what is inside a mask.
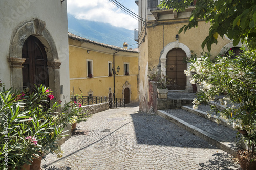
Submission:
[[[71,96],[71,100],[82,105],[94,105],[99,103],[109,103],[110,108],[125,107],[123,98],[107,98],[96,96]]]

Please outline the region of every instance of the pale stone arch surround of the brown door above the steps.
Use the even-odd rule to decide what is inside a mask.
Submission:
[[[163,71],[163,74],[166,74],[166,56],[168,54],[168,52],[174,48],[181,48],[185,53],[186,53],[186,56],[187,57],[191,57],[191,51],[190,49],[183,43],[180,43],[180,42],[171,42],[169,44],[167,44],[161,51],[161,54],[160,54],[160,65],[161,65],[161,71]],[[189,63],[187,63],[187,69],[189,67]],[[186,91],[192,91],[192,85],[189,81],[189,76],[187,76],[187,80],[186,80]]]

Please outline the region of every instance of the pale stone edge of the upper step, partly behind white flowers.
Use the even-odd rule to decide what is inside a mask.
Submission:
[[[191,107],[189,107],[189,106],[181,106],[181,109],[183,109],[183,110],[185,110],[185,111],[187,111],[187,112],[196,114],[196,115],[198,115],[198,116],[201,116],[201,117],[203,117],[203,118],[205,118],[205,119],[207,119],[207,120],[210,120],[211,122],[215,122],[215,120],[217,119],[217,118],[215,118],[215,117],[210,117],[210,118],[209,118],[209,117],[208,117],[208,114],[207,114],[206,112],[201,111],[201,110],[199,110],[199,109],[193,109],[193,108],[191,108]],[[216,122],[215,122],[215,123],[216,123]],[[216,123],[216,124],[217,124],[217,123]],[[230,128],[230,129],[232,129],[232,130],[236,130],[236,129],[233,129],[233,127],[232,127],[231,125],[229,125],[226,120],[223,120],[223,119],[222,119],[219,124],[221,124],[221,125],[223,125],[223,126],[225,126],[225,127],[228,127],[228,128]],[[236,131],[237,131],[237,130],[236,130]]]

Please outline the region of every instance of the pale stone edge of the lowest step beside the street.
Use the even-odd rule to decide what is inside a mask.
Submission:
[[[208,141],[209,143],[215,145],[217,148],[229,153],[229,154],[236,154],[236,150],[233,150],[232,148],[228,147],[225,143],[222,143],[216,139],[216,137],[208,132],[205,132],[204,130],[197,128],[184,120],[181,120],[180,118],[177,118],[163,110],[158,110],[157,114],[166,120],[169,120],[170,122],[173,122],[174,124],[178,125],[179,127],[195,134],[196,136]]]

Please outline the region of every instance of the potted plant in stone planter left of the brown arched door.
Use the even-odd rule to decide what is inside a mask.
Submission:
[[[157,82],[157,94],[159,99],[167,99],[168,95],[168,88],[167,85],[170,84],[171,79],[168,78],[167,75],[163,73],[163,71],[159,71],[159,69],[155,66],[152,68],[148,68],[149,74],[148,79],[149,81]],[[160,73],[161,72],[161,73]]]

